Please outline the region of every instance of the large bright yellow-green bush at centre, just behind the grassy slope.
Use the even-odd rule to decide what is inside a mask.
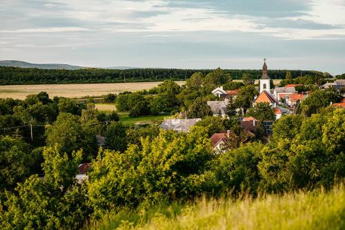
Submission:
[[[207,191],[204,175],[210,160],[210,143],[199,129],[189,134],[161,132],[142,149],[125,153],[99,151],[92,164],[88,197],[96,213],[121,205],[187,198]]]

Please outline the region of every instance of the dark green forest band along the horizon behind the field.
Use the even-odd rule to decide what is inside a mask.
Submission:
[[[46,70],[0,66],[0,85],[10,84],[68,84],[68,83],[116,83],[186,80],[194,73],[207,75],[213,70],[187,70],[164,68],[133,68],[126,70],[85,68],[81,70]],[[328,73],[309,70],[290,70],[293,77],[305,75],[330,77]],[[242,79],[244,73],[259,79],[261,70],[226,70],[233,79]],[[286,70],[268,70],[272,79],[284,79]]]

